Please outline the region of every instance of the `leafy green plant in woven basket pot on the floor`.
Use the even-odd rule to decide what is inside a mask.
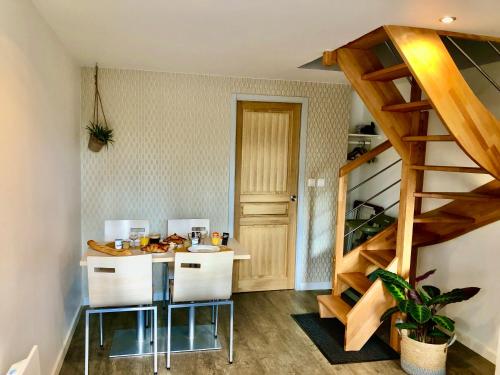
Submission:
[[[393,272],[375,271],[396,301],[396,306],[388,309],[380,320],[394,313],[404,317],[404,321],[396,323],[396,328],[401,334],[401,367],[411,375],[446,374],[447,348],[456,339],[455,322],[439,312],[444,306],[468,300],[479,292],[479,288],[469,287],[441,293],[432,285],[418,286],[434,272],[417,277],[414,288]]]

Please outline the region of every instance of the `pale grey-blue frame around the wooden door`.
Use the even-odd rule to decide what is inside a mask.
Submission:
[[[309,99],[299,96],[273,96],[253,94],[232,94],[231,96],[231,129],[229,145],[229,233],[234,233],[234,189],[236,173],[236,112],[238,101],[246,102],[270,102],[270,103],[294,103],[302,104],[300,111],[300,139],[299,139],[299,178],[297,196],[297,237],[295,239],[295,290],[302,290],[304,266],[301,262],[305,255],[305,230],[306,205],[305,202],[305,173],[306,173],[306,150],[307,150],[307,113]]]

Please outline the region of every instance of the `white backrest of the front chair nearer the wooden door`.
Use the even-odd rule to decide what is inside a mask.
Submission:
[[[233,251],[175,254],[173,302],[231,297]]]

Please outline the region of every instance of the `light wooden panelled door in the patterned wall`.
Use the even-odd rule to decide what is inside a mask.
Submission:
[[[238,102],[234,235],[251,259],[238,264],[237,292],[294,287],[300,112]]]

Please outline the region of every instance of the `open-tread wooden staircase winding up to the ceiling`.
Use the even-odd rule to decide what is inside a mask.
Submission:
[[[378,268],[397,272],[413,282],[418,247],[437,244],[500,220],[500,123],[464,81],[441,36],[500,42],[499,38],[403,26],[383,26],[323,55],[324,64],[338,64],[364,101],[388,142],[348,163],[339,173],[333,288],[318,296],[323,318],[346,326],[345,350],[359,350],[380,325],[393,299],[380,280],[368,278]],[[382,66],[372,48],[390,41],[403,63]],[[410,101],[393,80],[408,77]],[[428,135],[429,110],[449,134]],[[455,142],[478,167],[426,165],[428,142]],[[346,194],[349,173],[390,147],[401,156],[401,191],[397,223],[344,254]],[[493,180],[471,192],[423,191],[424,174],[481,173]],[[450,202],[422,213],[423,199]],[[352,288],[361,295],[354,306],[342,299]],[[398,349],[397,334],[391,345]]]

